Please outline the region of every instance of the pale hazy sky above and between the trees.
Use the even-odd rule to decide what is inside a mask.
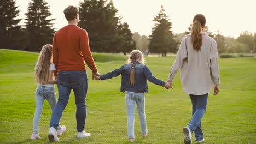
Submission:
[[[45,0],[55,18],[54,28],[67,25],[63,9],[67,5],[78,6],[83,0]],[[29,0],[16,0],[20,18],[25,18]],[[217,33],[218,29],[225,36],[238,37],[242,31],[256,32],[255,0],[113,0],[123,22],[127,22],[132,32],[150,35],[154,27],[152,21],[158,14],[161,5],[170,16],[173,33],[188,31],[193,17],[203,14],[209,32]],[[24,20],[21,21],[23,24]]]

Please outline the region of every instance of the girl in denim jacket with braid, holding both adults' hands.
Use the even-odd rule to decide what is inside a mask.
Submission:
[[[125,92],[126,109],[127,109],[127,128],[130,142],[135,142],[134,121],[135,121],[135,104],[137,105],[139,122],[141,124],[141,133],[143,137],[148,134],[146,115],[145,115],[145,97],[144,93],[148,92],[147,80],[156,85],[170,88],[170,83],[166,83],[153,76],[151,71],[144,65],[143,54],[139,50],[133,50],[130,58],[119,69],[110,71],[101,76],[94,76],[96,80],[106,80],[112,77],[122,75],[121,92]]]

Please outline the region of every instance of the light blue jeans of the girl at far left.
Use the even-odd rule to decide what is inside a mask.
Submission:
[[[33,124],[33,133],[39,133],[39,121],[40,116],[42,115],[44,100],[47,100],[50,104],[51,110],[57,103],[56,94],[54,87],[45,87],[42,85],[37,86],[36,90],[36,110],[34,112],[34,124]],[[60,123],[57,125],[57,129],[60,129]]]

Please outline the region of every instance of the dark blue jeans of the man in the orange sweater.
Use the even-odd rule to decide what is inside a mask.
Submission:
[[[88,88],[86,71],[60,71],[57,76],[57,86],[59,89],[59,100],[51,114],[50,127],[57,129],[62,113],[68,104],[71,89],[73,89],[75,105],[77,105],[77,131],[82,132],[85,128],[86,119],[85,99]]]

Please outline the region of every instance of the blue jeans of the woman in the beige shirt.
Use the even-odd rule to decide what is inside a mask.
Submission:
[[[201,141],[203,139],[201,119],[206,111],[208,93],[203,95],[189,94],[189,97],[192,102],[192,118],[187,127],[191,133],[195,131],[196,140]]]

